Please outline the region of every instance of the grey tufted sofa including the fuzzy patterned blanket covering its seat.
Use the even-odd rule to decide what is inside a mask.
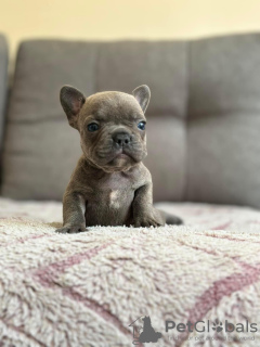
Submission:
[[[164,346],[244,344],[236,331],[230,343],[224,332],[170,338],[164,322],[259,317],[260,35],[24,41],[8,107],[6,62],[1,37],[3,346],[130,346],[140,316],[151,316]],[[86,95],[150,86],[154,200],[185,226],[54,233],[80,155],[58,101],[66,83]],[[258,333],[247,337],[259,345]]]

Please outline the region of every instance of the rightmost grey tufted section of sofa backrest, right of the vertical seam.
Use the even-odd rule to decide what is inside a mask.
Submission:
[[[260,35],[191,43],[188,201],[260,208]]]

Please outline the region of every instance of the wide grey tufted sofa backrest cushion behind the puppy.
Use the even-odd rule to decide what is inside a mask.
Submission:
[[[146,83],[155,201],[260,207],[260,35],[196,41],[31,40],[18,50],[4,196],[61,200],[80,155],[60,88],[86,95]]]

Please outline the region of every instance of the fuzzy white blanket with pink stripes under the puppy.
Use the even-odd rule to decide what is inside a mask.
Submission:
[[[162,336],[139,346],[259,346],[260,213],[159,207],[185,226],[64,235],[54,232],[61,204],[1,198],[0,346],[130,347],[129,324],[140,316]],[[216,319],[259,331],[165,330],[166,320],[213,326]]]

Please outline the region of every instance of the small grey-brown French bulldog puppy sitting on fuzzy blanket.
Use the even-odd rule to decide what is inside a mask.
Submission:
[[[106,91],[86,97],[64,86],[61,104],[80,134],[82,156],[63,198],[63,228],[77,233],[91,226],[159,227],[180,218],[153,206],[153,183],[142,160],[147,155],[144,113],[150,88],[133,94]]]

